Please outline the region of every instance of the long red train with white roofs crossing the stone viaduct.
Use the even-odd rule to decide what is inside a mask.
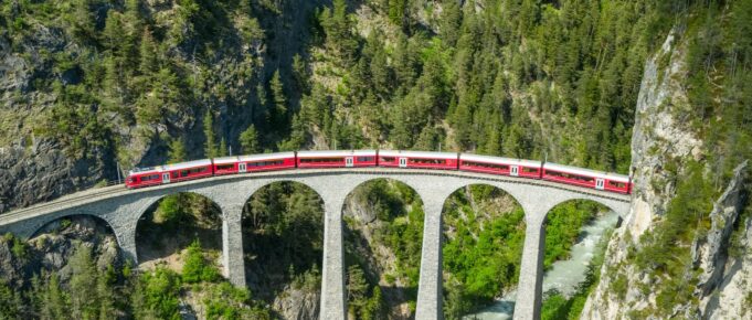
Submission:
[[[542,179],[583,188],[632,193],[631,178],[622,174],[533,160],[468,153],[392,150],[297,151],[197,160],[131,170],[126,179],[126,186],[134,189],[211,175],[273,170],[368,167],[459,170]]]

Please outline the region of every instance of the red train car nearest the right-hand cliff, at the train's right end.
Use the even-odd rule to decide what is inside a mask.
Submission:
[[[543,164],[543,180],[619,193],[629,193],[632,190],[632,181],[627,175],[550,162]]]

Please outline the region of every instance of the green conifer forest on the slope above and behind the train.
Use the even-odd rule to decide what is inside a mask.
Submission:
[[[18,1],[0,25],[21,56],[40,24],[77,45],[25,52],[60,77],[28,88],[54,105],[21,126],[74,158],[442,148],[627,172],[643,64],[678,4],[487,2],[311,2],[289,21],[293,1]]]

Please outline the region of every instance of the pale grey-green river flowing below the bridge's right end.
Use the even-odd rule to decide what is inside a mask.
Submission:
[[[595,247],[603,233],[616,226],[618,215],[608,212],[582,228],[580,241],[572,246],[572,257],[568,260],[553,263],[551,269],[543,276],[543,292],[557,289],[569,297],[574,294],[578,284],[585,279],[587,265],[593,258]],[[501,299],[496,300],[490,307],[477,313],[465,316],[464,319],[477,320],[506,320],[511,319],[515,311],[517,291],[511,291]]]

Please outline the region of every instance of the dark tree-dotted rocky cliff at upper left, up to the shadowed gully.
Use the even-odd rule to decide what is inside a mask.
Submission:
[[[0,3],[0,213],[165,163],[176,140],[203,157],[206,111],[237,153],[277,71],[296,110],[293,61],[321,2],[231,2]],[[273,145],[287,127],[257,129]]]

